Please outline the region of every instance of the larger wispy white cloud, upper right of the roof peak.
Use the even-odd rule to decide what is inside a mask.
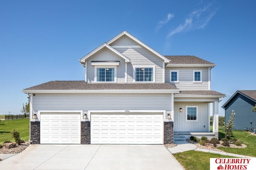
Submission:
[[[198,10],[194,10],[185,19],[185,22],[180,24],[176,29],[172,30],[167,37],[170,37],[176,33],[190,31],[192,29],[203,29],[212,17],[216,14],[216,11],[210,10],[211,4],[204,6]]]

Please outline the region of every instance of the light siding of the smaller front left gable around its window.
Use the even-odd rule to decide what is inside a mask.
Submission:
[[[124,83],[125,78],[125,61],[123,58],[118,56],[116,53],[110,51],[106,47],[92,55],[87,61],[87,78],[88,83],[94,83],[94,66],[92,66],[92,61],[120,61],[119,66],[116,66],[116,79],[117,83]],[[104,66],[102,66],[104,67]],[[107,66],[110,67],[111,66]]]

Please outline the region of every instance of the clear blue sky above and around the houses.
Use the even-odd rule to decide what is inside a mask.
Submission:
[[[0,114],[20,114],[24,88],[84,80],[78,60],[124,30],[162,55],[217,64],[212,90],[227,95],[222,106],[236,90],[256,90],[255,8],[255,0],[1,0]]]

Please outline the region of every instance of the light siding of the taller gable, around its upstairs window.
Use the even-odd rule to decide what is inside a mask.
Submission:
[[[126,35],[121,37],[120,39],[114,41],[110,44],[111,46],[134,46],[139,45],[138,43],[134,42],[132,39],[128,38]],[[126,57],[130,59],[130,63],[127,65],[127,82],[133,82],[133,66],[136,65],[155,65],[156,72],[155,72],[155,82],[162,83],[163,82],[163,60],[145,49],[144,47],[141,48],[115,48],[118,52],[122,53]]]

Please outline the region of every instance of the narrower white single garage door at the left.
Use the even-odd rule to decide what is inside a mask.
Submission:
[[[80,144],[80,113],[40,113],[41,144]]]

